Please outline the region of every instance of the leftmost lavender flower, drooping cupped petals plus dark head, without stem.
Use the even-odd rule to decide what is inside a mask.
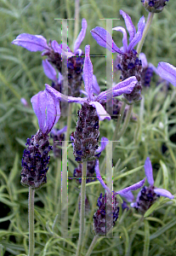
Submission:
[[[21,183],[32,189],[39,189],[47,182],[48,152],[52,149],[48,142],[48,132],[60,119],[59,102],[44,90],[31,98],[40,129],[36,135],[27,139],[21,162]],[[45,113],[47,112],[47,114]]]

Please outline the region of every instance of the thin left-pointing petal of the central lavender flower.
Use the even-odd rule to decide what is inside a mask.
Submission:
[[[55,98],[58,99],[60,102],[76,102],[76,103],[83,103],[86,102],[86,98],[80,98],[80,97],[71,97],[71,96],[65,96],[61,94],[58,90],[55,90],[53,87],[51,87],[48,84],[45,84],[46,90]]]

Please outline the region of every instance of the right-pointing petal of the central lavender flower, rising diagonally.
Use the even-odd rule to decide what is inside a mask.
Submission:
[[[133,88],[135,84],[137,84],[137,79],[136,77],[130,77],[128,79],[125,79],[124,81],[114,85],[112,88],[109,90],[102,91],[99,96],[97,97],[97,102],[101,102],[106,100],[107,95],[111,95],[113,97],[120,96],[123,93],[129,94],[133,91]],[[113,92],[113,95],[112,95]]]

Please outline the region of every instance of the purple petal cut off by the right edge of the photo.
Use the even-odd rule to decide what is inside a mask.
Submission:
[[[169,83],[176,86],[176,67],[167,62],[159,62],[157,71],[162,79],[166,79]]]

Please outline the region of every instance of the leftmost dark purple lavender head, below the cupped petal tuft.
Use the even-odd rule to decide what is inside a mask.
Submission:
[[[48,135],[44,135],[41,130],[27,139],[26,146],[21,161],[21,183],[32,189],[39,189],[47,182],[50,159],[48,152],[52,147],[49,146]]]

